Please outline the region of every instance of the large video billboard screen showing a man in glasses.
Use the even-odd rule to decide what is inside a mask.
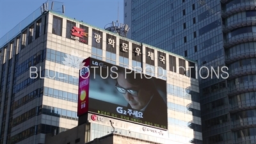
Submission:
[[[88,112],[167,129],[166,81],[94,58],[84,61],[79,88],[89,83]]]

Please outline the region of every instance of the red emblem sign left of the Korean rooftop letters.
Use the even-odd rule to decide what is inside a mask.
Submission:
[[[73,26],[70,33],[71,39],[88,44],[88,27],[83,26],[83,28],[77,28],[76,26]]]

